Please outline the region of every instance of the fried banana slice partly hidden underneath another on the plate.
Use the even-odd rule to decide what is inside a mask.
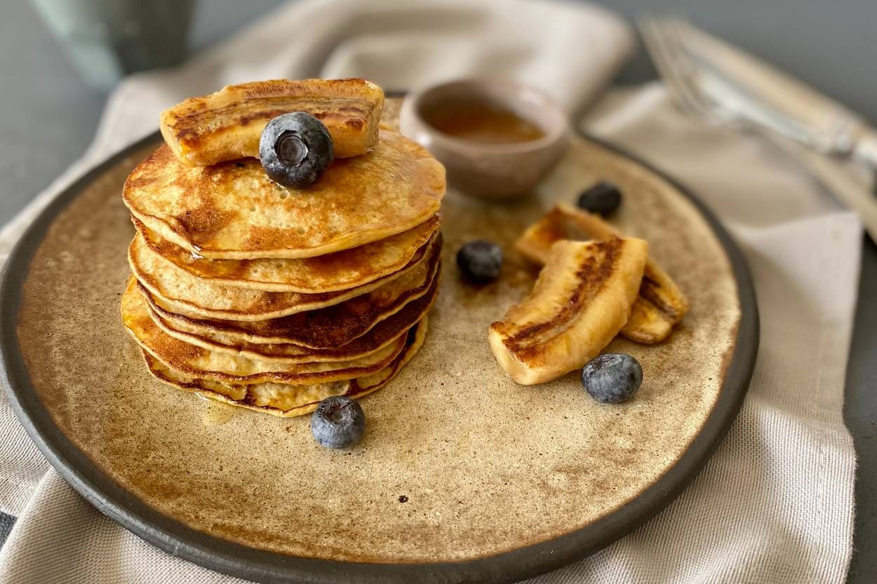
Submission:
[[[581,241],[613,237],[618,237],[618,232],[602,218],[572,205],[558,203],[545,217],[524,231],[515,246],[530,260],[545,264],[552,244],[560,239]],[[621,334],[646,345],[660,343],[687,311],[688,298],[667,272],[648,260],[631,318]]]

